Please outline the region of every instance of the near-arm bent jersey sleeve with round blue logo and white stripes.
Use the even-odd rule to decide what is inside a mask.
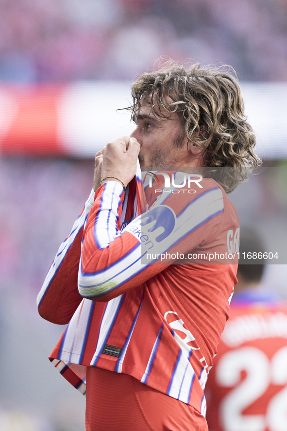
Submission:
[[[78,288],[84,298],[106,302],[136,288],[204,243],[211,231],[216,236],[222,222],[223,195],[215,186],[196,197],[162,194],[119,231],[123,197],[115,181],[96,192],[79,267]],[[157,264],[161,255],[167,258]]]

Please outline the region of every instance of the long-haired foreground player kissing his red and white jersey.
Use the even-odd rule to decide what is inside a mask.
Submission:
[[[237,281],[226,192],[259,161],[254,134],[219,69],[169,63],[132,97],[135,130],[97,153],[38,310],[68,323],[50,360],[86,395],[86,430],[206,431],[203,391]],[[203,172],[218,167],[237,170]]]

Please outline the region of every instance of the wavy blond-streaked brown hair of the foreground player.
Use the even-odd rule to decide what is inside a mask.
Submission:
[[[246,121],[238,80],[223,69],[226,67],[200,64],[185,68],[170,60],[135,81],[131,88],[133,104],[128,109],[136,116],[145,100],[154,115],[168,118],[167,111],[176,112],[188,140],[203,149],[205,167],[237,168],[236,173],[227,170],[217,175],[228,192],[261,160],[253,151],[255,135]]]

